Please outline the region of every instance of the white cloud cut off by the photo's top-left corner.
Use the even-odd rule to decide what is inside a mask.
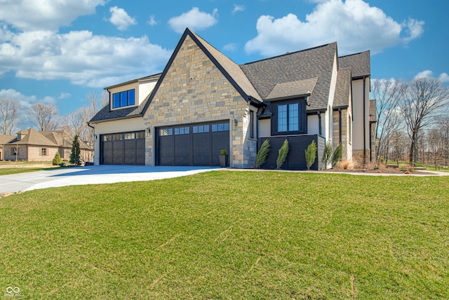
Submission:
[[[0,21],[20,30],[56,31],[80,15],[95,13],[105,0],[14,0],[0,1]]]

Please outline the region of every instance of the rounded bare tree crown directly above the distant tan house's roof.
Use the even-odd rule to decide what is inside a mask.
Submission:
[[[42,102],[32,104],[27,115],[28,120],[40,131],[55,130],[58,128],[58,107],[55,104]]]

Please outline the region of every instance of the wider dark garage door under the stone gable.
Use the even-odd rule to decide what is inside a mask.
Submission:
[[[229,153],[229,121],[163,127],[156,130],[158,165],[219,166]]]

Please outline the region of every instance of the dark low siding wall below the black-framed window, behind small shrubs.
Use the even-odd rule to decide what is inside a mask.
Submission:
[[[283,163],[281,169],[283,170],[307,170],[305,150],[312,140],[316,142],[318,148],[316,160],[313,165],[311,165],[310,170],[322,170],[324,168],[323,163],[321,163],[321,158],[323,157],[323,149],[325,144],[324,137],[320,135],[284,135],[278,137],[261,137],[257,141],[257,149],[260,145],[269,139],[270,150],[267,155],[267,161],[262,165],[263,169],[276,169],[276,160],[278,158],[279,149],[281,148],[283,141],[288,140],[288,156],[286,161]]]

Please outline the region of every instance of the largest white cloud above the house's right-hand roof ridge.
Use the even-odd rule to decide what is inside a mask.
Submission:
[[[304,22],[292,13],[279,19],[262,15],[257,20],[257,36],[246,43],[246,52],[277,55],[337,41],[340,55],[361,50],[379,53],[424,32],[424,22],[410,18],[399,24],[363,0],[314,2],[316,8]]]

